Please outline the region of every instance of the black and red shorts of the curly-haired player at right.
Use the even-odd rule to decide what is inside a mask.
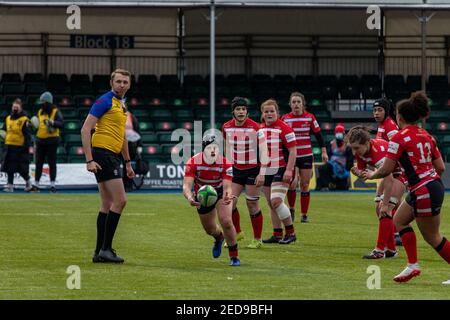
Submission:
[[[442,180],[433,180],[408,193],[405,200],[413,207],[415,217],[432,217],[441,213],[444,193]]]

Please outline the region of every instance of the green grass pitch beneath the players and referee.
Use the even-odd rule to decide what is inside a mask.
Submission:
[[[211,256],[212,238],[180,194],[129,194],[113,246],[123,265],[93,264],[97,194],[0,196],[0,299],[449,299],[450,269],[414,226],[422,275],[397,284],[406,265],[368,261],[376,241],[373,194],[313,193],[309,224],[295,223],[293,245],[245,248],[251,225],[241,197],[246,239],[240,267],[226,249]],[[263,236],[271,233],[265,200]],[[297,209],[298,211],[298,209]],[[450,238],[450,197],[442,212]],[[81,270],[81,289],[69,290],[68,266]],[[381,289],[367,288],[367,268],[381,270]]]

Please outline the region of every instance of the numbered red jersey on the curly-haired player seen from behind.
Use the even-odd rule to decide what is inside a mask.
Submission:
[[[409,125],[397,132],[389,142],[387,157],[400,162],[410,191],[439,179],[433,160],[441,157],[436,140],[424,129]]]

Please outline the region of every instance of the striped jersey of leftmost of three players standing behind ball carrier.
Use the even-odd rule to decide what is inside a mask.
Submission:
[[[259,124],[247,118],[242,126],[231,119],[222,127],[222,135],[227,146],[227,157],[239,170],[252,169],[258,164],[258,144],[264,140]],[[229,148],[229,150],[228,150]]]

